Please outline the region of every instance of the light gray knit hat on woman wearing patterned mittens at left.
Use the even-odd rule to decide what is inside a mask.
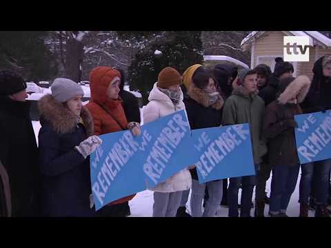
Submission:
[[[70,79],[55,79],[50,90],[52,91],[52,96],[55,101],[59,103],[64,103],[72,99],[74,96],[84,95],[81,85]]]

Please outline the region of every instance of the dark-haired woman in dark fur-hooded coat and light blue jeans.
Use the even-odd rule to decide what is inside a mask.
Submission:
[[[188,121],[192,130],[207,127],[219,127],[221,125],[221,109],[223,98],[217,92],[216,79],[204,68],[199,68],[192,77],[192,83],[188,88],[190,98],[185,101]],[[192,176],[192,195],[190,206],[192,217],[215,216],[223,195],[223,180],[213,180],[199,184],[197,168],[190,169]],[[208,189],[208,200],[202,213],[202,201],[205,189]]]

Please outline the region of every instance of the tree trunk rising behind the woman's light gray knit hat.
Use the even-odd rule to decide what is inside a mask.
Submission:
[[[75,82],[81,81],[83,43],[70,37],[66,44],[66,77]]]

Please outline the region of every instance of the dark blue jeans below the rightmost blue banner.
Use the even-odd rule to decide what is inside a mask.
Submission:
[[[299,187],[299,203],[301,204],[308,204],[314,169],[316,176],[316,202],[319,204],[327,203],[331,159],[301,165],[301,180]]]

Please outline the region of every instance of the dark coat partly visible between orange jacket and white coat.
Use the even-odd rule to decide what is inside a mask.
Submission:
[[[140,123],[140,110],[137,97],[126,90],[121,90],[119,96],[122,99],[122,107],[126,113],[128,122],[134,121]]]

